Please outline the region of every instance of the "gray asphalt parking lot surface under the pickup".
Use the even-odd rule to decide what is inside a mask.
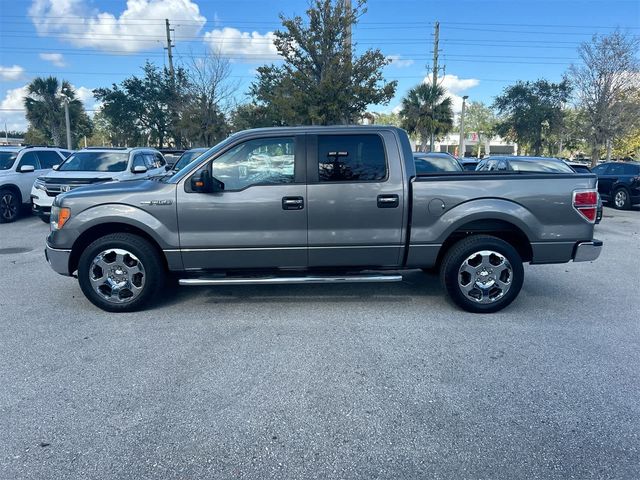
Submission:
[[[640,478],[640,210],[596,262],[460,311],[398,284],[181,287],[93,307],[0,225],[0,478]]]

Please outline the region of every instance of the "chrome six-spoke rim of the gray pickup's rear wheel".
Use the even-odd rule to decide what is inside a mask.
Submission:
[[[458,270],[458,287],[470,300],[493,303],[504,297],[513,280],[513,268],[504,255],[481,250],[467,257]]]

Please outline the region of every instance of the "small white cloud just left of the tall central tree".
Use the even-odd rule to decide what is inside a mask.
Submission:
[[[261,62],[278,59],[278,50],[274,45],[275,35],[267,32],[241,32],[236,28],[214,29],[204,34],[209,48],[221,55],[234,57],[245,62]]]

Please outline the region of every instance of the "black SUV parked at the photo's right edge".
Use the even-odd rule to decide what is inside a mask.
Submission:
[[[640,162],[607,162],[591,170],[598,175],[598,192],[614,208],[628,210],[640,203]]]

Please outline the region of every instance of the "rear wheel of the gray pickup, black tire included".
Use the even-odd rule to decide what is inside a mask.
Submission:
[[[497,255],[481,255],[480,252]],[[488,268],[483,267],[484,263],[472,265],[478,258],[483,261],[486,258],[495,265],[489,263]],[[463,266],[475,269],[474,273],[461,271]],[[447,251],[440,268],[440,280],[456,305],[468,312],[492,313],[502,310],[518,296],[524,282],[524,268],[520,255],[509,243],[489,235],[472,235]],[[471,288],[471,291],[465,293],[463,288]]]

